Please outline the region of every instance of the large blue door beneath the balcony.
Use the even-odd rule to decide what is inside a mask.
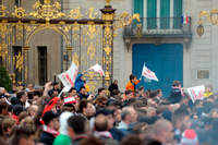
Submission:
[[[133,46],[133,74],[141,77],[143,64],[154,71],[159,82],[142,81],[137,87],[162,89],[168,97],[174,80],[183,82],[183,46],[181,44],[136,44]]]

